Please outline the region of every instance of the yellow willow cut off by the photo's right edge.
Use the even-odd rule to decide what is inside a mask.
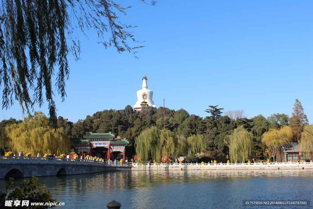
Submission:
[[[313,124],[306,125],[303,128],[300,141],[300,151],[305,156],[310,155],[313,152]]]

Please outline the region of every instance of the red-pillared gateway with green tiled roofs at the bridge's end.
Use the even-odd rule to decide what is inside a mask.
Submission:
[[[73,141],[75,153],[79,156],[90,155],[102,159],[123,159],[126,160],[125,146],[129,144],[126,138],[121,139],[115,134],[92,133],[84,135],[83,140]]]

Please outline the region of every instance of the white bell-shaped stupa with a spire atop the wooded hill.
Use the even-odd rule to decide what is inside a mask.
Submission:
[[[142,89],[137,91],[137,102],[134,110],[140,111],[141,107],[156,107],[152,101],[153,91],[148,90],[146,74],[142,78]]]

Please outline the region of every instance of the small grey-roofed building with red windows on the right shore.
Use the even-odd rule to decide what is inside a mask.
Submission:
[[[280,146],[276,152],[277,162],[304,162],[304,159],[309,158],[312,160],[312,153],[304,154],[300,151],[300,145],[297,142],[292,142],[283,146]]]

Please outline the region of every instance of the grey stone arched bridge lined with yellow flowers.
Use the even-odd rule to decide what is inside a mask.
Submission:
[[[6,177],[38,177],[131,170],[131,167],[131,163],[107,163],[91,159],[0,156],[0,179]]]

